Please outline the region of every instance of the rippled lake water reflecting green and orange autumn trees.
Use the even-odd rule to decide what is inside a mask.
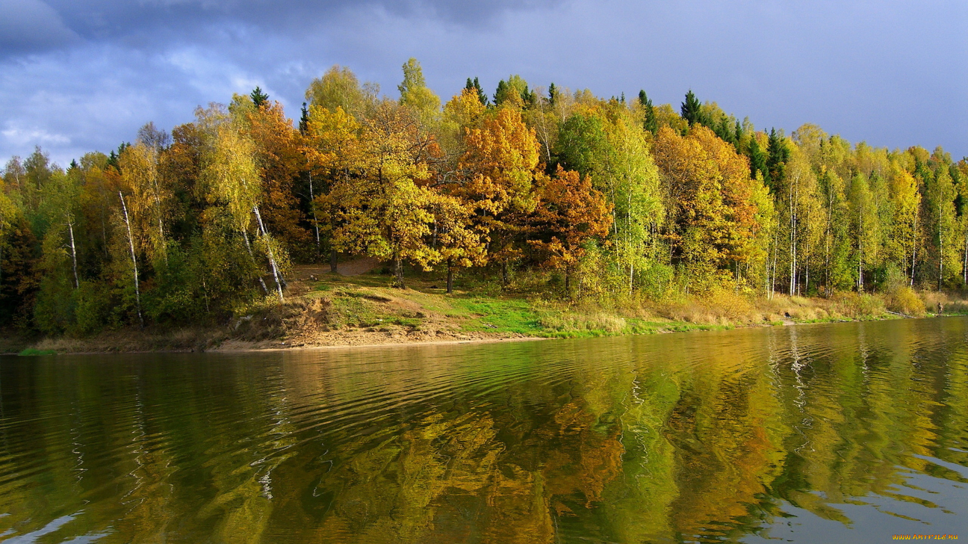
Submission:
[[[0,541],[968,538],[968,318],[0,358]]]

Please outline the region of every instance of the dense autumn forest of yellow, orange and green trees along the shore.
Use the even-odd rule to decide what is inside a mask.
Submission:
[[[589,90],[441,106],[414,59],[399,98],[345,67],[298,119],[258,87],[170,133],[65,167],[36,148],[0,181],[0,326],[47,335],[224,322],[287,297],[301,263],[376,257],[562,301],[730,291],[830,297],[968,284],[968,161],[815,125],[756,130]],[[678,110],[677,110],[678,109]]]

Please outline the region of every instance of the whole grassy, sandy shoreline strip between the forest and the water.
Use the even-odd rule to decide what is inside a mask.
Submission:
[[[385,275],[324,273],[299,267],[284,304],[266,301],[225,323],[177,329],[107,330],[85,338],[0,337],[0,352],[21,354],[378,347],[507,342],[550,338],[651,334],[968,314],[953,293],[903,291],[836,293],[830,298],[776,294],[750,297],[712,292],[703,297],[630,300],[602,306],[501,291],[487,283],[446,294],[432,277],[406,289]]]

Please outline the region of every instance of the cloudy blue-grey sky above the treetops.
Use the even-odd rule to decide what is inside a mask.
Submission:
[[[964,0],[0,0],[0,161],[66,165],[257,85],[298,117],[335,64],[396,97],[409,57],[444,101],[468,76],[692,89],[758,129],[968,155]]]

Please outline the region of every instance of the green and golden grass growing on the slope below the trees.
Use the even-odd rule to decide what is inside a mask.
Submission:
[[[440,287],[442,278],[432,274],[408,275],[407,289],[390,287],[390,283],[391,278],[381,274],[324,274],[307,286],[306,296],[325,297],[334,328],[388,330],[387,327],[397,326],[415,331],[445,326],[465,333],[545,338],[894,317],[885,311],[884,297],[857,293],[838,293],[830,299],[777,294],[766,299],[720,291],[603,307],[548,298],[547,293],[527,288],[502,292],[495,281],[480,277],[462,278],[453,294],[446,294]],[[925,305],[931,303],[933,300],[924,301]]]

